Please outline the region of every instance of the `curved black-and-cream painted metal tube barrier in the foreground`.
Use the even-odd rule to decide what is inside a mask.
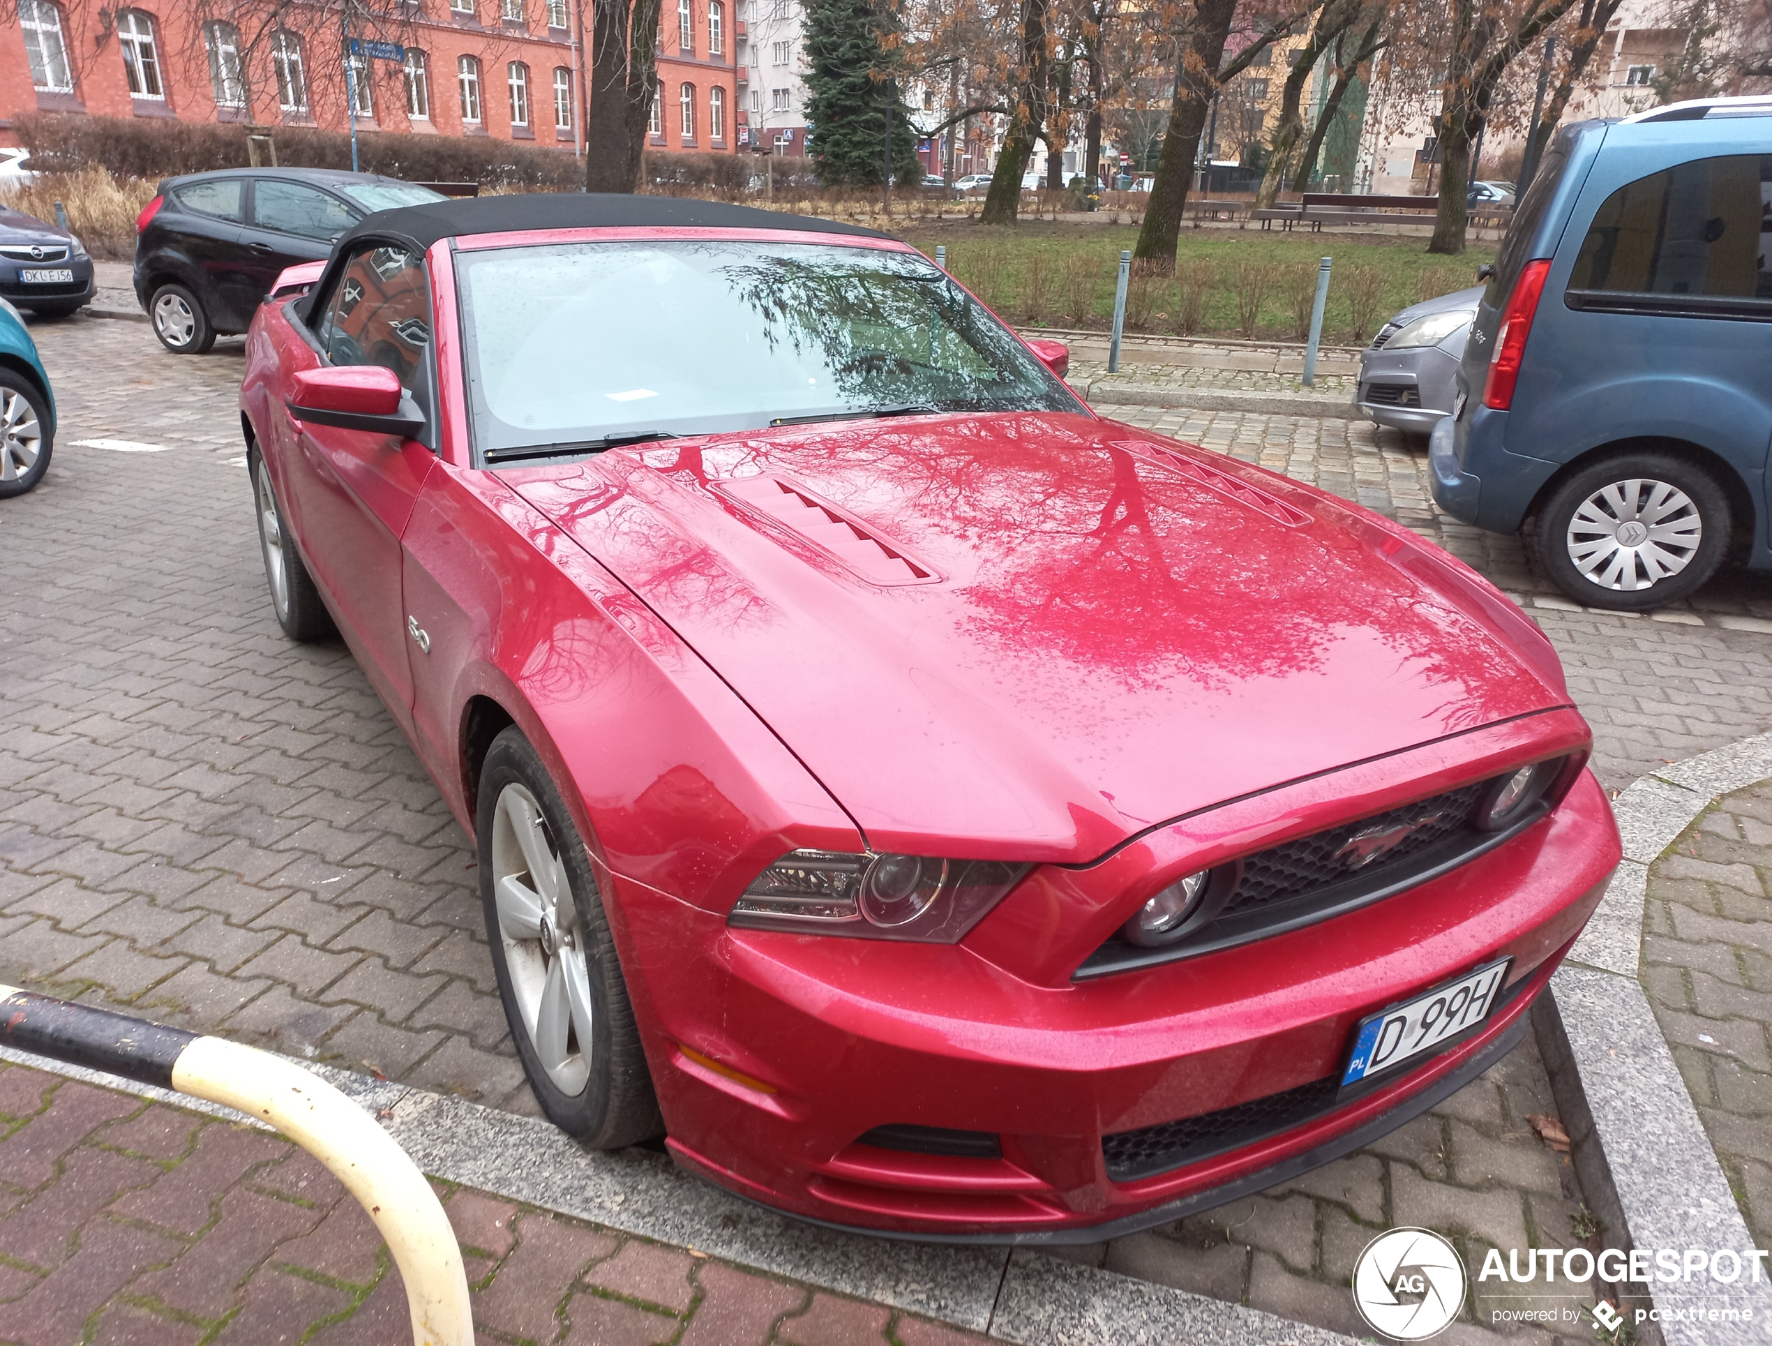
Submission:
[[[317,1075],[252,1046],[0,986],[0,1043],[225,1103],[269,1123],[369,1211],[406,1284],[415,1346],[473,1346],[455,1231],[406,1151]]]

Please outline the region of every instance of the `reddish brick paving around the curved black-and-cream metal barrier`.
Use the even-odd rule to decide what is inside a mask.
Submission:
[[[487,1346],[983,1341],[436,1186]],[[363,1208],[287,1140],[0,1062],[0,1342],[390,1346],[409,1323]]]

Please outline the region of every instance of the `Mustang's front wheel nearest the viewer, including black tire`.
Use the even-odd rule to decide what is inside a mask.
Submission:
[[[514,725],[486,754],[475,833],[498,995],[535,1101],[592,1149],[661,1135],[590,855]]]

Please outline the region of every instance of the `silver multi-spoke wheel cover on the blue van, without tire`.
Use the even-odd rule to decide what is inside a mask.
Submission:
[[[1643,477],[1602,486],[1568,521],[1568,559],[1602,589],[1650,589],[1690,564],[1705,537],[1678,486]]]

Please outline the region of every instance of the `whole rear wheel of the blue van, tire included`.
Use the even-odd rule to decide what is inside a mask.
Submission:
[[[1538,511],[1533,546],[1550,582],[1582,606],[1652,612],[1717,573],[1729,528],[1728,497],[1705,468],[1636,452],[1563,481]]]

